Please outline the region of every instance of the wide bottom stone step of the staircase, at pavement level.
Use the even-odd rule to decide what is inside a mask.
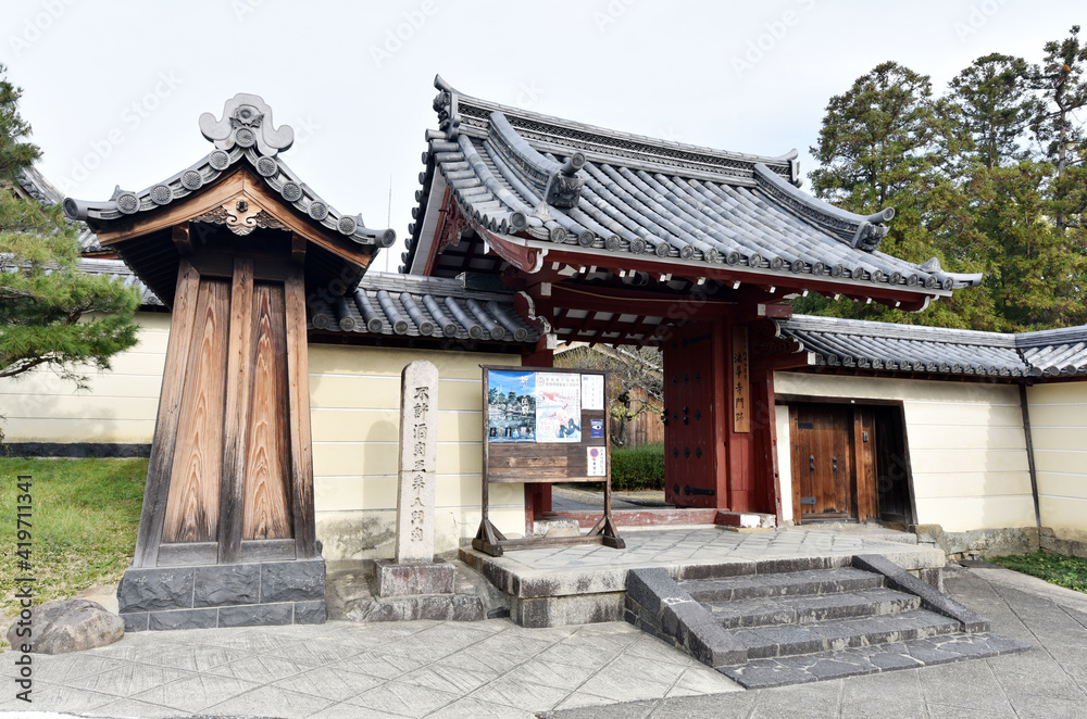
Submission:
[[[752,659],[717,671],[745,689],[803,684],[824,679],[916,669],[935,664],[1023,652],[1030,645],[1002,634],[952,634],[773,659]]]

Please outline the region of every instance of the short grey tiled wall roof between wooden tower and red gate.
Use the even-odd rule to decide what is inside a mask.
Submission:
[[[310,301],[314,329],[457,340],[535,343],[513,295],[480,292],[459,279],[370,272],[345,298]]]

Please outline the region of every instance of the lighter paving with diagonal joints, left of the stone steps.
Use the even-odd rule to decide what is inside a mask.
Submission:
[[[2,655],[0,711],[523,719],[555,707],[740,691],[622,622],[335,621],[139,632],[98,649],[35,656],[29,707],[13,698],[13,660]]]

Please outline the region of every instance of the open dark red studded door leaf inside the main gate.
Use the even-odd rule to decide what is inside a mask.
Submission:
[[[664,497],[677,507],[717,506],[713,363],[707,323],[676,328],[664,348]]]

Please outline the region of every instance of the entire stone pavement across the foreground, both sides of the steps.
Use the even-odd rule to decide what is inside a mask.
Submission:
[[[130,634],[111,646],[35,656],[35,703],[3,711],[109,717],[1062,717],[1087,707],[1087,595],[1004,569],[947,581],[995,631],[1035,648],[872,677],[744,692],[708,667],[613,622],[524,629],[483,622]]]

